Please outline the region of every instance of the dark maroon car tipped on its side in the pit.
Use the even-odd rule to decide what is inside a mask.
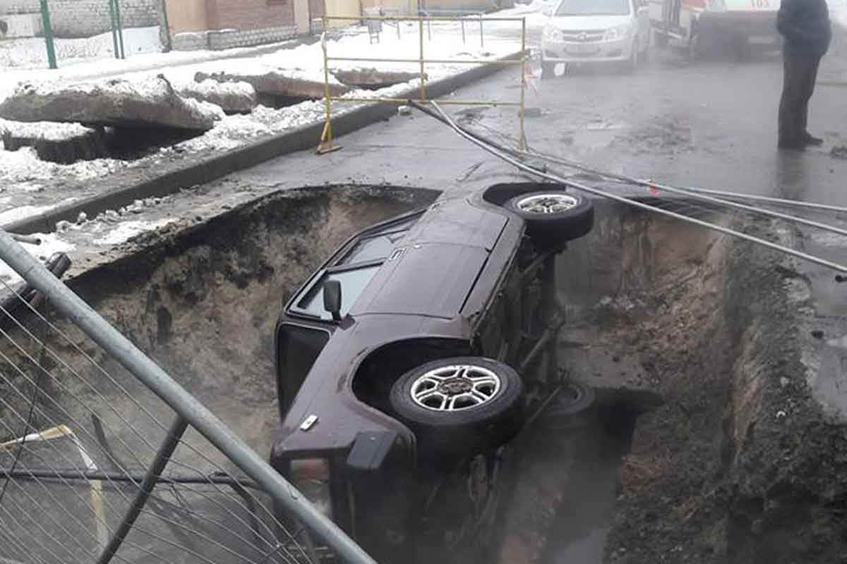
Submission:
[[[593,222],[497,184],[347,241],[280,315],[274,468],[378,561],[485,545],[503,446],[559,384],[555,256]]]

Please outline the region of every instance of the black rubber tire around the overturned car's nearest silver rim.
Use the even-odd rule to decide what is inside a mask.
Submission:
[[[493,374],[499,386],[488,388],[492,395],[484,402],[453,411],[438,410],[435,406],[424,407],[412,397],[413,392],[437,391],[445,383],[455,382],[458,387],[454,388],[456,392],[450,397],[458,402],[458,397],[467,393],[461,388],[468,386],[469,380],[462,375],[451,376],[450,367],[456,366],[476,367],[479,377]],[[424,386],[422,382],[427,375],[438,370],[444,371],[446,380],[440,386]],[[485,388],[479,386],[479,390]],[[434,394],[438,395],[447,394]],[[482,452],[512,440],[523,426],[522,396],[523,381],[507,364],[482,357],[456,357],[435,360],[409,370],[391,387],[389,399],[396,416],[415,431],[419,453],[424,456],[451,456]],[[436,397],[433,403],[438,401]]]

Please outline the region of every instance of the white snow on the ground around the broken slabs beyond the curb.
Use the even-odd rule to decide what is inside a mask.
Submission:
[[[425,57],[431,59],[454,60],[464,59],[484,63],[495,57],[502,57],[509,53],[517,52],[519,49],[519,24],[511,22],[490,22],[486,24],[490,30],[495,27],[511,25],[515,30],[513,36],[486,36],[484,47],[480,47],[479,39],[468,33],[467,41],[462,41],[461,29],[457,24],[440,24],[432,26],[431,40],[427,38],[424,45]],[[401,37],[397,38],[396,30],[386,27],[379,43],[371,43],[367,30],[364,28],[353,28],[335,38],[327,41],[327,49],[330,57],[363,57],[363,58],[418,58],[418,28],[417,25],[407,23],[401,28]],[[168,54],[158,54],[155,57],[166,57]],[[85,64],[77,65],[82,68]],[[470,68],[473,65],[462,63],[432,63],[428,64],[426,72],[428,80],[441,79],[451,74],[456,74]],[[356,63],[351,61],[330,62],[330,68],[379,68],[385,71],[411,71],[418,70],[419,65],[415,63]],[[35,84],[62,83],[68,85],[75,82],[71,77],[74,74],[65,71],[66,74],[56,75],[50,71],[28,71],[25,81]],[[155,68],[120,74],[121,79],[130,80],[133,84],[141,84],[143,81],[152,79],[157,74],[163,74],[170,82],[179,89],[194,81],[198,72],[213,73],[241,73],[260,74],[268,71],[279,71],[291,78],[311,79],[319,82],[324,80],[324,56],[320,43],[312,45],[300,45],[296,48],[283,49],[269,54],[238,59],[224,59],[211,62],[194,64],[177,64],[167,68]],[[0,84],[0,101],[14,89],[14,80],[11,85],[6,81],[6,74]],[[9,78],[14,79],[15,73],[9,73]],[[334,79],[333,79],[334,80]],[[395,95],[409,87],[419,85],[418,79],[413,79],[406,84],[395,85],[390,88],[374,91],[353,91],[346,95],[352,96],[390,96]],[[3,92],[3,89],[5,93]],[[342,112],[350,112],[360,106],[359,102],[336,102],[333,105],[335,115]],[[155,166],[164,160],[180,158],[186,153],[197,153],[201,151],[226,151],[235,147],[245,145],[263,135],[279,134],[287,129],[293,129],[307,123],[316,123],[324,118],[323,101],[305,101],[292,107],[274,109],[271,107],[257,107],[253,112],[246,115],[233,115],[222,118],[215,127],[191,140],[163,148],[156,155],[147,156],[136,161],[119,161],[114,159],[98,159],[88,162],[77,162],[73,165],[59,165],[40,161],[35,151],[22,149],[19,151],[0,152],[0,185],[6,188],[6,194],[20,194],[19,205],[25,205],[26,194],[31,194],[40,186],[55,185],[58,178],[75,183],[89,178],[106,176],[111,172],[126,167]],[[8,209],[8,204],[0,204],[0,213]],[[2,222],[0,222],[2,224]]]

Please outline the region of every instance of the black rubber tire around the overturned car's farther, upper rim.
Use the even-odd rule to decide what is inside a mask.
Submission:
[[[525,200],[544,195],[567,196],[569,200],[573,200],[574,204],[566,210],[548,213],[527,211],[525,207],[522,207]],[[594,205],[591,200],[563,189],[521,194],[507,201],[506,207],[518,216],[523,217],[524,221],[527,222],[527,233],[531,238],[545,244],[572,241],[590,233],[594,227]]]

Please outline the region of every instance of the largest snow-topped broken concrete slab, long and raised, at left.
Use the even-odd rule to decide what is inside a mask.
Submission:
[[[76,85],[20,85],[0,103],[0,118],[91,126],[208,131],[224,112],[179,96],[167,79],[113,79]]]

